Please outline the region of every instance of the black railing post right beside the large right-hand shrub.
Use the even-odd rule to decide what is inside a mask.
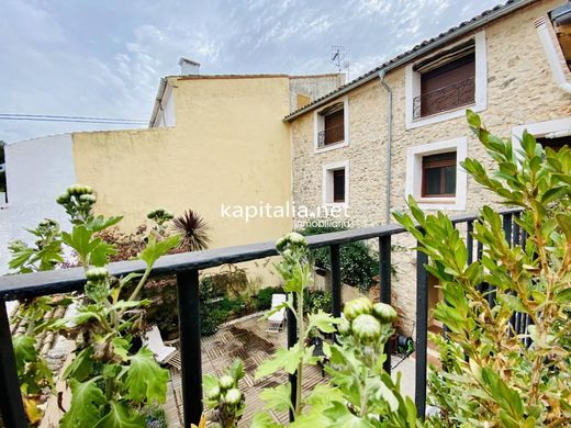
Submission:
[[[421,247],[421,243],[418,243]],[[416,382],[414,402],[418,417],[426,414],[426,352],[428,346],[428,257],[416,251]]]

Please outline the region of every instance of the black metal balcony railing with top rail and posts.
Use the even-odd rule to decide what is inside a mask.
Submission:
[[[514,216],[519,215],[519,210],[502,212],[504,232],[506,237],[508,237],[508,241],[513,244],[520,244],[526,239],[525,234],[514,223]],[[452,217],[455,225],[466,224],[466,240],[470,261],[474,251],[473,238],[470,234],[473,230],[473,222],[477,219],[475,215]],[[340,247],[344,244],[357,240],[379,240],[380,300],[384,303],[391,303],[391,239],[393,235],[403,233],[406,233],[406,230],[402,226],[391,224],[307,237],[310,248],[329,247],[334,316],[340,316],[342,312]],[[475,254],[478,258],[481,258],[482,247],[480,244],[475,249]],[[271,241],[169,255],[161,257],[156,262],[152,272],[153,275],[176,274],[177,277],[182,401],[186,427],[189,427],[191,423],[198,424],[203,409],[199,271],[226,263],[257,260],[277,255],[275,243]],[[424,415],[426,409],[428,273],[425,269],[425,263],[427,263],[427,256],[422,251],[417,251],[415,403],[418,415]],[[143,272],[145,267],[143,261],[135,260],[113,262],[108,268],[113,275],[125,275],[131,272]],[[0,278],[0,410],[5,427],[21,428],[26,427],[27,423],[20,394],[12,336],[4,303],[11,300],[77,292],[83,289],[85,283],[86,277],[82,268]],[[482,284],[482,286],[488,285]],[[490,293],[490,295],[492,294]],[[527,323],[528,320],[525,319],[514,319],[514,325],[518,326],[519,329],[517,331],[519,333],[525,331]],[[296,335],[295,317],[288,316],[288,346],[295,343]],[[388,352],[384,368],[390,373],[390,352]],[[290,375],[290,382],[292,385],[292,399],[294,399],[295,374]]]

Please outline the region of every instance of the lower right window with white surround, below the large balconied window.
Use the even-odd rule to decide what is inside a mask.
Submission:
[[[464,211],[468,174],[458,164],[468,154],[468,138],[410,147],[406,153],[405,198],[423,210]]]

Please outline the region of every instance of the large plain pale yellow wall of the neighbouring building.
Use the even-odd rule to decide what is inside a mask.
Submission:
[[[212,245],[270,240],[291,218],[223,218],[221,204],[291,200],[288,77],[169,78],[176,126],[74,134],[76,176],[98,192],[98,212],[133,229],[154,207],[195,210]]]

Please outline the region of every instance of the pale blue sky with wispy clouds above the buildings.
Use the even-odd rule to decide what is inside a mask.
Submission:
[[[181,56],[203,75],[323,74],[340,45],[354,79],[500,1],[2,0],[0,113],[148,120]],[[0,140],[120,127],[0,120]]]

